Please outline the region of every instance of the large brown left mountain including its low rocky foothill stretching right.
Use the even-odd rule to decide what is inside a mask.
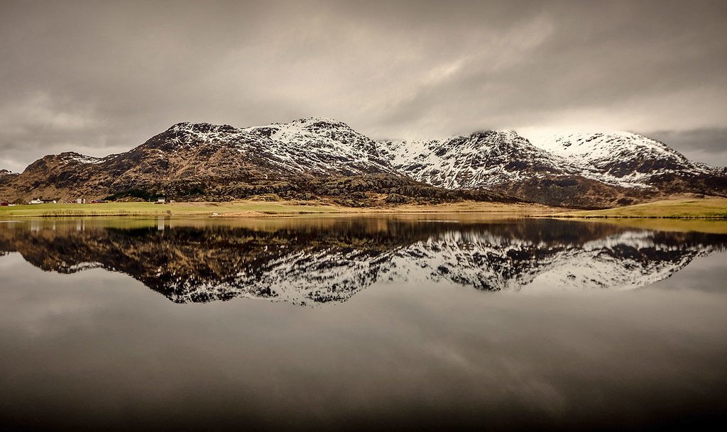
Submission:
[[[31,163],[0,193],[15,200],[166,195],[231,200],[254,195],[343,205],[514,201],[497,193],[446,190],[398,174],[376,143],[345,123],[304,118],[235,128],[177,123],[128,152],[92,158],[68,152]]]

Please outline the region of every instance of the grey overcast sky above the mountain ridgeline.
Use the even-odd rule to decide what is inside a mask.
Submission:
[[[627,130],[727,165],[727,1],[0,0],[0,168],[310,115]]]

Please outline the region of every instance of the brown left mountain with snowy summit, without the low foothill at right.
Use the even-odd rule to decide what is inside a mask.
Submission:
[[[177,123],[129,152],[93,158],[75,152],[31,163],[17,179],[18,195],[103,197],[128,189],[204,189],[290,178],[391,174],[371,139],[323,118],[238,129]],[[270,187],[262,192],[270,192]],[[65,193],[64,193],[65,191]],[[161,192],[161,191],[160,191]]]

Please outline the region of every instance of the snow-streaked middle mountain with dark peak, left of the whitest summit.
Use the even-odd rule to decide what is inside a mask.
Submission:
[[[514,131],[483,131],[430,141],[380,141],[403,174],[446,189],[483,188],[548,205],[598,208],[631,203],[628,189],[583,175],[566,158]]]

